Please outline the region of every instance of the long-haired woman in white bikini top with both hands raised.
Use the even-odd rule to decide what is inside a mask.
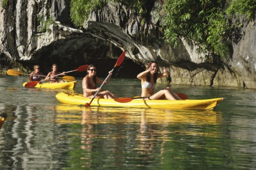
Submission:
[[[168,99],[168,100],[181,100],[172,90],[167,87],[154,93],[155,85],[157,84],[157,79],[170,75],[170,72],[165,69],[164,72],[159,73],[158,63],[156,61],[151,61],[148,64],[147,70],[139,73],[137,78],[141,80],[141,97],[146,97],[146,100],[158,100],[158,99]]]

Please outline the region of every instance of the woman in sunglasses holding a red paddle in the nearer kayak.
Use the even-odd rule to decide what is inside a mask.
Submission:
[[[101,92],[101,89],[97,88],[97,83],[102,84],[103,80],[96,76],[96,72],[96,66],[90,64],[87,69],[87,74],[82,80],[84,97],[92,98],[93,95],[99,90],[99,93],[97,93],[95,98],[117,99],[118,97],[116,97],[113,93],[110,93],[108,90]],[[109,71],[109,74],[112,75],[112,72]],[[110,77],[111,76],[109,76],[108,80],[105,82],[106,84],[109,82]]]

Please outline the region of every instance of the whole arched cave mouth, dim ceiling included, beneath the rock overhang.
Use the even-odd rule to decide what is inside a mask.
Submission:
[[[57,64],[60,72],[76,70],[85,64],[94,64],[97,67],[97,77],[106,77],[121,53],[123,50],[111,42],[90,36],[81,36],[66,38],[49,44],[47,47],[42,47],[34,54],[34,60],[24,61],[24,64],[29,70],[32,70],[33,65],[40,65],[44,75],[51,71],[52,64]],[[113,78],[136,78],[138,73],[143,70],[140,63],[135,63],[126,57],[123,63],[114,70]],[[84,77],[86,72],[76,71],[69,75]]]

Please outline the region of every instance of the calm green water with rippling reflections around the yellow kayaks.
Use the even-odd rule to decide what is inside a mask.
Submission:
[[[85,108],[55,99],[68,90],[23,88],[26,80],[0,77],[0,169],[256,168],[256,90],[171,86],[194,99],[225,97],[214,111]],[[69,91],[82,93],[77,81]],[[127,79],[104,89],[141,92]]]

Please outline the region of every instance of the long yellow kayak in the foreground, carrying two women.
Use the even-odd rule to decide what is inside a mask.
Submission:
[[[83,97],[77,93],[58,93],[56,96],[60,103],[71,105],[85,105],[91,99]],[[204,100],[143,100],[133,99],[127,103],[121,103],[114,99],[95,98],[91,106],[111,106],[111,107],[140,107],[140,108],[161,108],[161,109],[204,109],[213,110],[224,98],[204,99]]]

